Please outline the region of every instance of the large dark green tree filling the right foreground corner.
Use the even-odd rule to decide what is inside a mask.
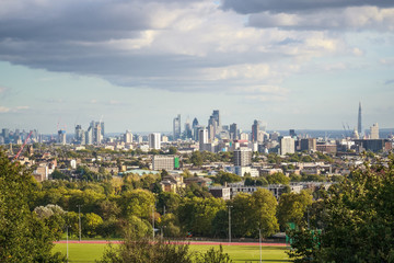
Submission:
[[[324,196],[316,211],[320,229],[312,220],[311,229],[300,226],[291,232],[290,256],[298,262],[393,262],[393,199],[394,157],[386,165],[366,163]]]

